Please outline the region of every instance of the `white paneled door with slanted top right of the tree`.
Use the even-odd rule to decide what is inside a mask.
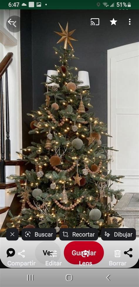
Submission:
[[[114,189],[139,191],[139,42],[108,50],[108,146],[114,147],[109,170],[123,175]]]

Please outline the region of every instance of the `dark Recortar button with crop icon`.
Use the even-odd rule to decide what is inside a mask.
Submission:
[[[62,228],[59,232],[60,240],[97,240],[96,228]]]

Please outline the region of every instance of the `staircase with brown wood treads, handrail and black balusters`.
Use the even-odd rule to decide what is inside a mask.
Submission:
[[[18,214],[20,203],[16,195],[10,193],[16,189],[16,184],[6,180],[6,176],[13,174],[21,175],[25,171],[24,161],[11,160],[11,142],[10,142],[10,124],[9,124],[9,91],[8,91],[8,67],[13,60],[13,53],[7,53],[0,63],[0,229],[6,225],[6,216],[9,209],[13,209],[13,214]],[[3,79],[5,77],[5,115],[4,115],[4,97],[3,97]],[[6,116],[6,117],[5,117]],[[14,111],[13,111],[14,116]],[[6,120],[5,120],[6,118]],[[6,134],[6,137],[5,137]],[[6,138],[6,140],[5,140]],[[16,213],[17,212],[17,213]]]

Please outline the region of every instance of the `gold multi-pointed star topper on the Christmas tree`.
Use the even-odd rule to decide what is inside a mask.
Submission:
[[[58,24],[60,25],[60,23],[58,23]],[[64,49],[67,49],[67,45],[68,45],[68,44],[69,44],[70,47],[73,49],[72,43],[71,43],[70,41],[71,41],[71,40],[72,40],[72,41],[78,41],[78,40],[75,40],[74,38],[72,38],[72,37],[70,37],[70,36],[75,32],[76,29],[74,29],[74,30],[68,32],[68,22],[67,22],[67,26],[66,26],[66,29],[65,29],[65,30],[62,28],[61,25],[60,25],[60,29],[61,29],[62,33],[61,33],[61,32],[55,32],[55,31],[54,31],[55,33],[57,33],[58,35],[61,36],[61,39],[57,42],[57,44],[64,41]]]

